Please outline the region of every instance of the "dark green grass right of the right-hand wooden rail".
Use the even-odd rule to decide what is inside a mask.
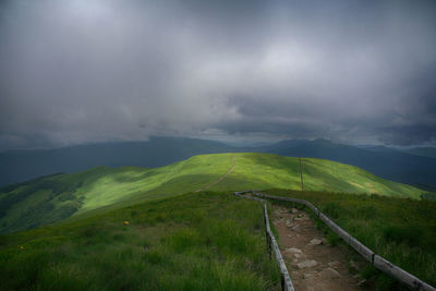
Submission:
[[[275,190],[268,193],[312,202],[376,254],[436,286],[436,203],[325,192]],[[329,235],[330,241],[338,240]],[[374,270],[367,269],[364,275],[372,276]],[[382,290],[392,283],[386,276],[377,280]]]

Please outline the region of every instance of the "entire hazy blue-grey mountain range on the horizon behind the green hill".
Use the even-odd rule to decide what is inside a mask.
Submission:
[[[432,149],[434,150],[426,149],[424,155],[413,149],[405,153],[379,146],[360,148],[326,140],[289,140],[267,146],[237,147],[205,140],[150,137],[148,142],[101,143],[0,153],[0,186],[46,174],[83,171],[97,166],[161,167],[202,154],[259,151],[340,161],[385,179],[434,190],[436,158],[429,156],[434,153]]]

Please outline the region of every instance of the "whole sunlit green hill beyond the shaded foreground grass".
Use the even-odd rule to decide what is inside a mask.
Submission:
[[[233,166],[226,179],[214,184]],[[307,191],[411,198],[419,198],[422,193],[339,162],[304,158],[302,167]],[[73,174],[43,177],[0,190],[0,232],[94,215],[207,186],[213,191],[300,190],[299,159],[270,154],[217,154],[195,156],[161,168],[97,167]]]

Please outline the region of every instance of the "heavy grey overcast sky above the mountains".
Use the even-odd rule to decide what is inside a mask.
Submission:
[[[0,1],[0,150],[436,141],[436,1]]]

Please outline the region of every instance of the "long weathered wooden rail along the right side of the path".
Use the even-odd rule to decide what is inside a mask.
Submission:
[[[416,278],[415,276],[407,272],[405,270],[401,269],[400,267],[393,265],[389,260],[376,255],[373,251],[366,247],[363,243],[351,237],[347,231],[341,229],[338,225],[336,225],[329,217],[318,210],[312,203],[307,201],[291,198],[291,197],[280,197],[280,196],[272,196],[267,194],[257,193],[255,191],[246,191],[243,193],[253,193],[253,195],[257,197],[268,198],[268,199],[276,199],[276,201],[284,201],[284,202],[292,202],[307,206],[311,208],[315,215],[326,223],[336,234],[338,234],[346,243],[348,243],[351,247],[353,247],[359,254],[361,254],[367,262],[370,262],[374,267],[377,269],[388,274],[389,276],[393,277],[398,281],[402,282],[407,287],[412,290],[420,290],[420,291],[436,291],[436,289],[423,280]],[[241,195],[242,196],[242,195]],[[253,197],[256,198],[256,197]],[[259,198],[257,198],[259,199]],[[263,199],[262,199],[263,201]]]

